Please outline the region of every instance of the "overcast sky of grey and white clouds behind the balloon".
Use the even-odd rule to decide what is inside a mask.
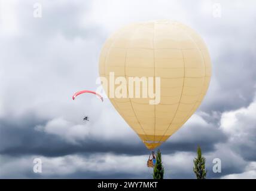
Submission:
[[[158,19],[196,30],[213,70],[202,105],[160,147],[165,178],[194,178],[197,145],[208,178],[256,178],[256,3],[218,2],[1,0],[0,178],[151,178],[148,150],[111,103],[71,96],[96,90],[112,32]],[[35,158],[42,173],[33,172]],[[214,158],[221,173],[212,171]]]

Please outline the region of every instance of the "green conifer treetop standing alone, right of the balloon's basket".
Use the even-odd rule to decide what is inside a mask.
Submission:
[[[194,174],[197,179],[205,179],[207,170],[205,168],[205,158],[202,156],[200,146],[197,147],[197,158],[194,159]]]

